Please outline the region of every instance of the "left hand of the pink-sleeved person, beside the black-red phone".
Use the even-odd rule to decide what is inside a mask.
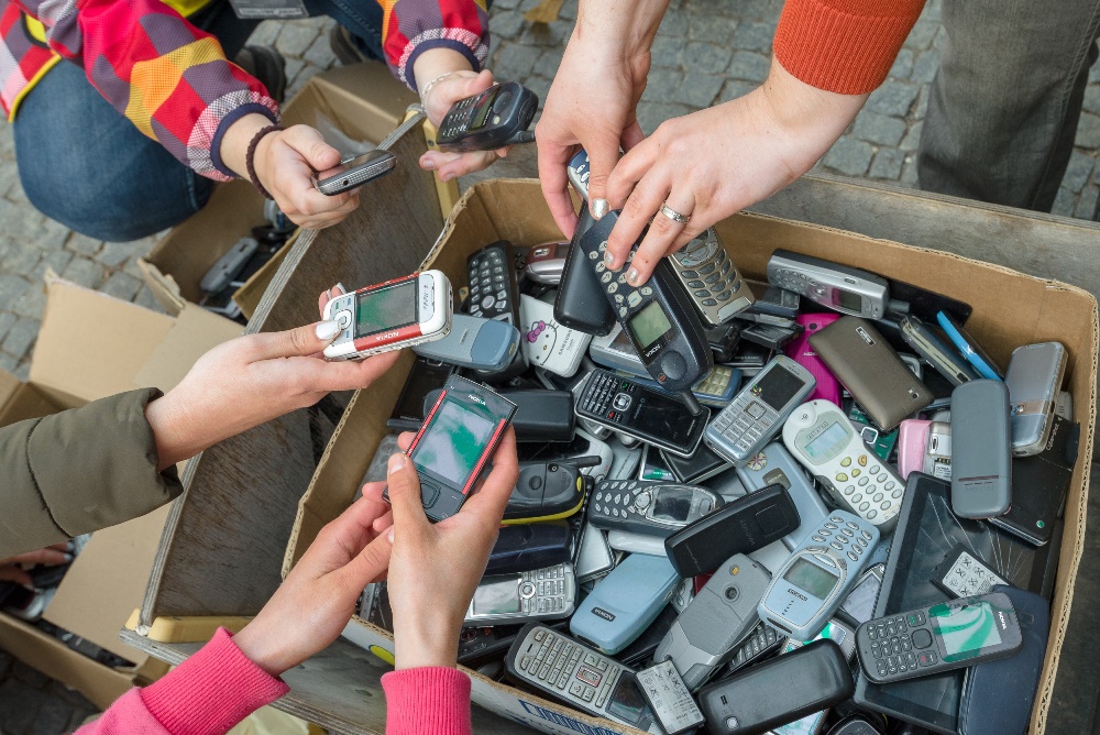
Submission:
[[[383,579],[393,545],[374,529],[388,506],[361,497],[321,529],[260,614],[233,636],[264,671],[279,676],[336,640],[371,582]]]

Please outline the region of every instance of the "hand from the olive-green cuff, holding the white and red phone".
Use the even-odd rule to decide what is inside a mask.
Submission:
[[[322,301],[327,297],[328,292]],[[311,406],[332,391],[366,387],[397,361],[399,352],[394,351],[361,362],[328,362],[321,350],[338,333],[336,321],[319,321],[238,337],[204,354],[179,385],[145,408],[156,437],[157,467]]]

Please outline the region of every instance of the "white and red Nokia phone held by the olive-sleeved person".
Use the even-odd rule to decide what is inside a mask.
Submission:
[[[426,344],[451,331],[451,282],[442,271],[394,278],[333,298],[323,318],[343,330],[324,348],[326,360],[360,360]]]

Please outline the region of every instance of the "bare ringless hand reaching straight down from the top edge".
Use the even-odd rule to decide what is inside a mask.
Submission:
[[[637,107],[649,74],[649,48],[668,0],[582,0],[576,25],[535,129],[539,179],[550,213],[566,238],[576,215],[565,166],[588,154],[588,201],[596,219],[607,212],[606,185],[619,146],[642,139]]]

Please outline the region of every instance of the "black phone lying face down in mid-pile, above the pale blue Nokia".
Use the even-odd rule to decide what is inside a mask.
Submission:
[[[799,512],[780,485],[728,503],[664,539],[664,551],[681,577],[714,569],[730,556],[748,553],[799,527]],[[681,672],[682,673],[682,672]]]

